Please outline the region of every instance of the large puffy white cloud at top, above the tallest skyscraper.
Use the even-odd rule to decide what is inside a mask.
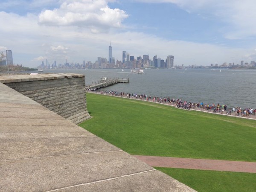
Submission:
[[[59,8],[41,12],[38,23],[89,27],[97,32],[106,28],[121,28],[122,21],[127,17],[123,10],[110,9],[107,0],[65,0]]]

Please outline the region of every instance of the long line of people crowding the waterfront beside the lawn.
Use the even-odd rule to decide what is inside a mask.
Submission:
[[[136,94],[136,93],[123,93],[118,92],[114,90],[96,90],[96,89],[89,89],[87,90],[89,92],[98,92],[100,94],[108,94],[112,96],[120,96],[120,97],[127,97],[131,99],[140,99],[145,101],[151,101],[151,102],[158,102],[166,105],[173,105],[177,108],[183,108],[183,109],[194,109],[194,110],[206,110],[213,113],[221,113],[221,114],[229,114],[232,115],[234,113],[236,116],[250,116],[250,115],[256,115],[256,108],[253,110],[253,108],[244,108],[241,109],[240,107],[236,108],[227,108],[227,105],[215,105],[212,104],[206,104],[206,103],[195,103],[195,102],[187,102],[183,101],[182,99],[174,99],[170,97],[158,97],[158,96],[151,96],[151,95],[145,95],[145,94]]]

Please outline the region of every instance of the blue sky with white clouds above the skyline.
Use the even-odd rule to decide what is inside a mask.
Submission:
[[[0,51],[15,64],[95,62],[122,51],[175,64],[256,61],[255,0],[2,0]]]

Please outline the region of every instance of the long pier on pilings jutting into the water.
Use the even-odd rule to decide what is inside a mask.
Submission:
[[[127,77],[126,79],[122,78],[122,79],[119,79],[119,78],[114,78],[114,79],[111,79],[111,78],[106,78],[106,77],[103,77],[100,79],[100,81],[95,81],[93,82],[93,84],[89,85],[89,86],[86,86],[85,88],[88,90],[88,89],[100,89],[100,88],[103,88],[103,87],[108,87],[108,86],[111,86],[113,84],[117,84],[117,83],[129,83],[129,77]]]

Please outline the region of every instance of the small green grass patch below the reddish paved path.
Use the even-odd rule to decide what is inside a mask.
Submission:
[[[198,192],[255,192],[256,174],[155,167]]]

